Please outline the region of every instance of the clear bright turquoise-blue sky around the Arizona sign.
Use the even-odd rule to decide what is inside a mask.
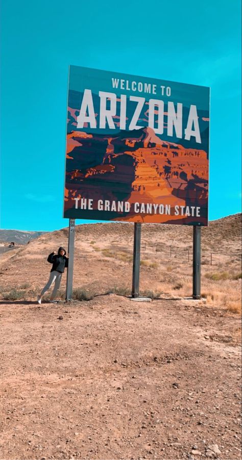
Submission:
[[[210,86],[209,219],[240,212],[238,0],[2,0],[1,17],[1,228],[68,225],[69,64]]]

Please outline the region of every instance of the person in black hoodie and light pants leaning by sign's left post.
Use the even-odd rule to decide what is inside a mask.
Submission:
[[[65,249],[63,247],[59,247],[57,254],[54,251],[49,255],[47,261],[50,262],[50,264],[53,264],[51,274],[48,283],[44,286],[40,295],[37,297],[38,303],[41,303],[44,293],[51,288],[53,283],[55,283],[55,286],[51,295],[51,300],[55,299],[60,287],[62,273],[64,272],[65,267],[68,267],[68,257],[65,257],[65,254]]]

